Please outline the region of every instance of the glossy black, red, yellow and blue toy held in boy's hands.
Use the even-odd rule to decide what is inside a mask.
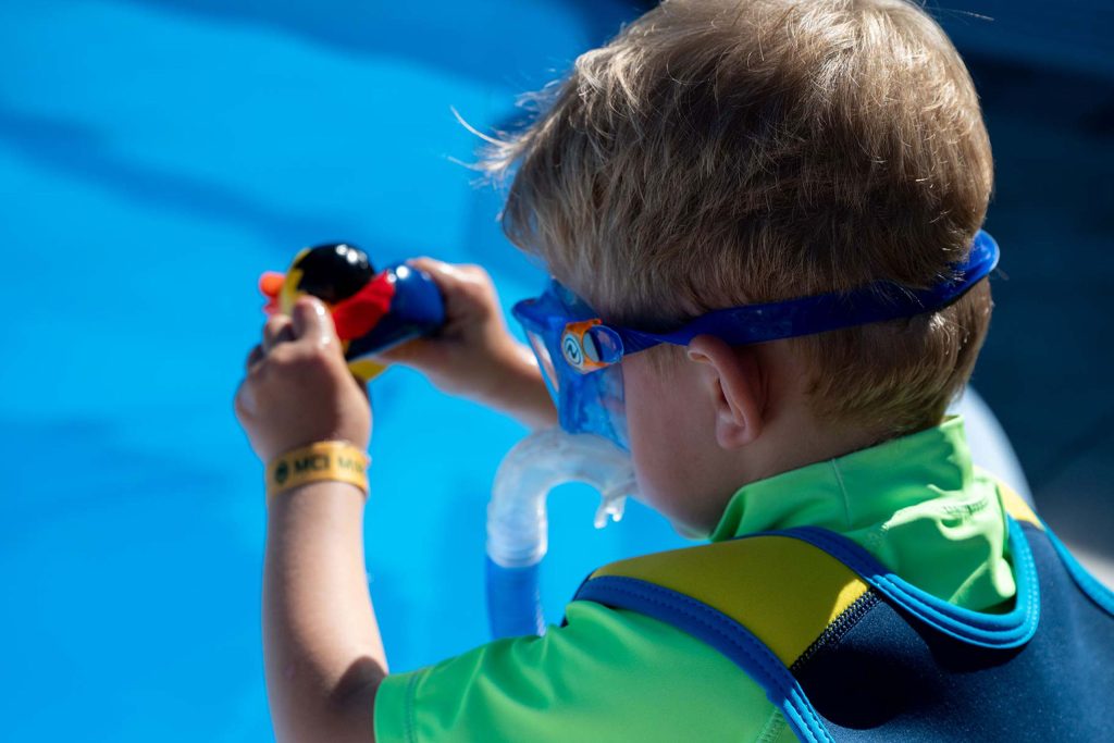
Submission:
[[[304,248],[285,274],[264,273],[260,291],[267,314],[290,313],[303,294],[324,302],[349,369],[364,381],[385,369],[371,356],[444,323],[441,292],[429,274],[404,263],[377,272],[368,254],[349,243]]]

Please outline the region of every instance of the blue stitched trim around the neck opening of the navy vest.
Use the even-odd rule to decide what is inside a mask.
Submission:
[[[801,527],[764,534],[793,537],[824,550],[858,573],[872,588],[886,595],[895,604],[945,634],[980,647],[1008,648],[1026,644],[1036,634],[1037,623],[1040,619],[1040,585],[1037,579],[1036,563],[1033,559],[1033,551],[1025,532],[1013,518],[1007,518],[1007,522],[1009,524],[1009,550],[1017,580],[1014,608],[1007,614],[973,612],[937,598],[896,576],[874,559],[870,553],[847,537],[827,529]],[[1054,544],[1056,542],[1054,541]],[[1068,560],[1075,563],[1062,545],[1057,547],[1057,551],[1062,556],[1066,556],[1065,563]],[[1100,606],[1106,606],[1102,603],[1103,600],[1114,604],[1114,595],[1111,595],[1094,578],[1083,571],[1077,563],[1075,566],[1082,575],[1082,578],[1077,577],[1076,580],[1087,580],[1092,584],[1092,588],[1088,590],[1087,586],[1081,583],[1081,588],[1086,590],[1088,596],[1095,598],[1091,592],[1102,589],[1105,592],[1105,596],[1102,600],[1095,598],[1096,603]],[[1074,570],[1073,576],[1075,576]]]

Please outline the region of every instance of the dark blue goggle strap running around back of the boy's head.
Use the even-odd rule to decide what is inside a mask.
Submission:
[[[590,335],[600,348],[600,355],[614,363],[626,353],[658,343],[687,345],[703,334],[715,335],[731,345],[746,345],[912,317],[942,310],[958,300],[994,271],[999,254],[995,239],[980,229],[967,261],[956,266],[957,276],[930,289],[913,290],[879,281],[851,292],[716,310],[671,333],[598,325]]]

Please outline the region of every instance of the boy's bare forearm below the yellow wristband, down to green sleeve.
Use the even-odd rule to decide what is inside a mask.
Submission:
[[[387,657],[363,565],[363,493],[314,482],[267,519],[263,643],[278,741],[373,741]]]

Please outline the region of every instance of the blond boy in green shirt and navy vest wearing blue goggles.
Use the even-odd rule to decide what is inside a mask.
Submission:
[[[558,408],[477,267],[419,262],[449,322],[392,360],[532,427],[585,430],[575,408],[600,405],[588,430],[628,448],[641,498],[714,544],[605,568],[544,637],[388,675],[362,549],[371,416],[302,300],[236,400],[271,465],[280,740],[1111,734],[1114,598],[944,418],[989,322],[993,168],[919,7],[666,0],[488,164],[517,168],[504,226],[565,287],[524,305],[557,307],[535,352]],[[346,463],[283,485],[290,452]]]

